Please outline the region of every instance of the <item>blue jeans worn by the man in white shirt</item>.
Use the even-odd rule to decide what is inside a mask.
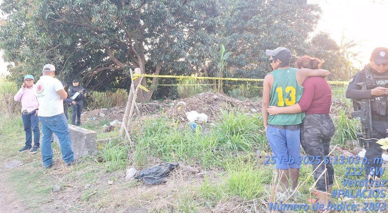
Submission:
[[[66,120],[64,113],[51,116],[51,117],[41,117],[39,120],[42,123],[42,146],[40,150],[42,151],[42,160],[43,166],[48,167],[52,165],[52,149],[51,149],[51,138],[52,133],[54,133],[58,139],[59,144],[61,145],[62,160],[65,164],[69,164],[74,161],[74,153],[71,148],[71,140],[69,133],[69,125]]]

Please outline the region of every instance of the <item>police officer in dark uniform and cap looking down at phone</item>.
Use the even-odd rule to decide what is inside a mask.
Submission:
[[[348,89],[346,90],[346,98],[361,100],[370,99],[371,106],[371,121],[372,121],[372,137],[376,139],[386,138],[388,136],[388,48],[376,48],[372,51],[370,64],[365,66],[363,70],[357,72],[350,79]],[[365,82],[367,88],[362,89],[357,83]],[[369,147],[365,146],[365,158],[368,159],[367,170],[365,176],[371,172],[371,167],[381,167],[382,161],[375,162],[375,158],[381,158],[383,150],[381,145],[376,143],[377,140],[369,141]],[[380,177],[379,174],[375,174]]]

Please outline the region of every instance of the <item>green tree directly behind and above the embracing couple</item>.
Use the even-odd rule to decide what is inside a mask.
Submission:
[[[265,49],[284,46],[294,57],[308,49],[308,34],[320,9],[295,0],[228,0],[220,16],[219,37],[233,52],[228,72],[233,77],[262,78],[272,70]]]

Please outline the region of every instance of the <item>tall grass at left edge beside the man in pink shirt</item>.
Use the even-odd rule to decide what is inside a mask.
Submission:
[[[14,101],[17,91],[16,83],[0,80],[0,111],[12,114],[20,110],[21,103]]]

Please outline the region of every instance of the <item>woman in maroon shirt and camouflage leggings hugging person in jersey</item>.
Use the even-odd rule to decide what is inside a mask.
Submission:
[[[318,58],[302,56],[296,60],[295,65],[298,69],[319,69],[322,61]],[[325,158],[329,154],[330,140],[334,135],[334,123],[329,115],[331,89],[325,78],[322,77],[307,78],[303,82],[303,87],[303,95],[299,103],[287,107],[270,106],[267,111],[271,115],[306,113],[300,126],[300,143],[307,155],[311,156],[310,160],[314,157],[314,162],[319,162],[312,164],[313,170],[318,167],[320,162],[324,162],[314,172],[314,179],[318,180],[317,193],[315,194],[319,197],[319,203],[327,206],[334,176],[330,158]],[[327,168],[326,174],[318,179],[325,168]],[[315,201],[312,202],[315,203]]]

